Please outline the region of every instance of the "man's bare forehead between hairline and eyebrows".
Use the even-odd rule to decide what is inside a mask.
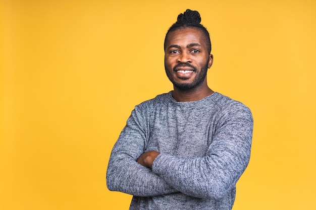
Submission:
[[[186,46],[191,43],[197,43],[206,48],[206,41],[203,32],[197,28],[177,29],[168,34],[166,48],[171,45]]]

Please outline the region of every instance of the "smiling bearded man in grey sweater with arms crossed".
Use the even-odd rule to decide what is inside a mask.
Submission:
[[[130,209],[231,209],[250,157],[250,110],[207,86],[213,55],[197,11],[165,38],[174,90],[135,107],[109,161],[110,190],[134,195]]]

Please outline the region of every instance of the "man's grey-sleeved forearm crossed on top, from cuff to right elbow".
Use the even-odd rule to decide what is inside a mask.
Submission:
[[[211,160],[210,160],[211,159]],[[236,185],[244,168],[234,171],[212,157],[180,159],[161,154],[153,172],[184,194],[199,198],[219,199]]]

